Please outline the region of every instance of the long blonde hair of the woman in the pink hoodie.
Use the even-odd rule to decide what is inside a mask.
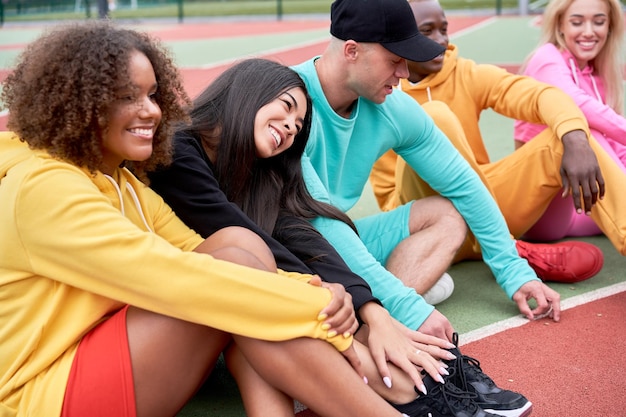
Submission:
[[[606,44],[593,60],[594,71],[604,81],[607,104],[619,114],[623,114],[624,87],[622,85],[622,47],[624,39],[624,19],[619,0],[603,0],[609,6],[609,32]],[[551,43],[567,49],[560,32],[565,11],[574,0],[550,0],[543,13],[541,39],[539,45]]]

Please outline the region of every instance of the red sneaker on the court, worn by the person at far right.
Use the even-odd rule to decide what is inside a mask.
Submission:
[[[519,256],[526,259],[544,281],[584,281],[600,272],[604,264],[602,250],[591,243],[566,241],[540,244],[517,240],[515,246]]]

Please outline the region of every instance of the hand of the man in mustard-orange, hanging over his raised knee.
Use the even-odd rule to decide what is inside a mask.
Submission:
[[[604,178],[587,135],[582,130],[574,130],[563,135],[563,159],[561,179],[563,197],[572,195],[577,213],[583,209],[587,215],[598,199],[604,198]],[[582,195],[581,195],[582,191]],[[581,205],[582,197],[582,205]]]

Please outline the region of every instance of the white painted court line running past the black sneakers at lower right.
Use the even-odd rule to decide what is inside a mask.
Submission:
[[[574,297],[570,297],[561,301],[561,310],[565,311],[567,309],[578,307],[579,305],[600,300],[602,298],[606,298],[624,291],[626,291],[626,282],[619,282],[608,287],[589,291],[584,294],[576,295]],[[465,344],[475,342],[489,336],[493,336],[494,334],[503,332],[505,330],[522,326],[528,322],[529,320],[521,315],[501,320],[488,326],[481,327],[480,329],[472,330],[459,335],[459,340],[461,341],[459,345],[463,346]]]

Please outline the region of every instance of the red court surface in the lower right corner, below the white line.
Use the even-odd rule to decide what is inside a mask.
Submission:
[[[626,292],[565,311],[560,323],[525,324],[463,345],[505,389],[524,394],[536,417],[626,416]],[[310,410],[298,417],[317,417]]]

